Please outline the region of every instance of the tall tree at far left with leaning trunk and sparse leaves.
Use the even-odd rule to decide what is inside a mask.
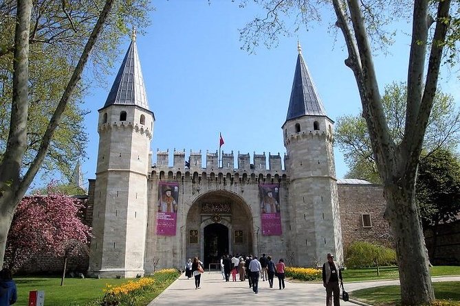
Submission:
[[[90,54],[92,67],[105,67],[98,64],[109,62],[111,54],[116,54],[116,45],[129,24],[145,24],[146,12],[145,0],[17,0],[0,4],[0,60],[7,71],[1,76],[2,91],[11,97],[9,106],[0,110],[9,117],[0,163],[1,263],[14,210],[45,163],[47,152],[63,154],[66,150],[54,140],[68,137],[58,132],[58,126],[65,124],[65,111],[72,108],[83,89],[80,80]],[[62,78],[61,72],[65,74]],[[49,82],[39,89],[41,77]],[[47,115],[38,116],[43,130],[31,129],[37,126],[29,121],[36,103],[46,105],[39,109]],[[31,155],[28,132],[37,132],[36,152]],[[28,160],[28,156],[33,158]]]

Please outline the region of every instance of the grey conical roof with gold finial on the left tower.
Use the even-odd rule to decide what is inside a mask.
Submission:
[[[131,45],[129,45],[127,54],[124,56],[103,108],[113,104],[135,105],[149,110],[144,78],[140,68],[138,47],[135,43],[135,32],[133,32]]]

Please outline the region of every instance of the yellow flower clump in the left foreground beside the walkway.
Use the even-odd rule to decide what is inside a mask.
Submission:
[[[105,296],[101,305],[135,305],[135,298],[142,295],[142,292],[155,283],[154,279],[145,277],[139,281],[128,281],[118,286],[107,285]]]

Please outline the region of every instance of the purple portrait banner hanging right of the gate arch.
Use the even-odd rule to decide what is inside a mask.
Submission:
[[[278,185],[259,185],[259,197],[261,203],[262,235],[281,235],[281,214]]]

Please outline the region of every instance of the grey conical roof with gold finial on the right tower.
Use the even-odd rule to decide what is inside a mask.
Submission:
[[[298,43],[298,56],[286,121],[305,115],[327,116]]]

